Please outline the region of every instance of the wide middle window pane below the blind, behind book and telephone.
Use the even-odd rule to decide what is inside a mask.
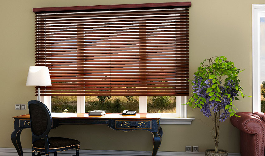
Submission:
[[[106,113],[136,110],[139,113],[139,96],[86,96],[85,112],[92,110],[106,110]]]

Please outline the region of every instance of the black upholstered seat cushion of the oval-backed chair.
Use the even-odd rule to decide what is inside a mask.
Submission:
[[[79,145],[80,142],[78,140],[74,139],[68,139],[68,138],[60,138],[60,137],[51,137],[49,138],[49,149],[61,149],[64,147],[71,147]],[[44,139],[37,140],[32,144],[32,147],[38,148],[38,149],[44,149],[45,141]]]

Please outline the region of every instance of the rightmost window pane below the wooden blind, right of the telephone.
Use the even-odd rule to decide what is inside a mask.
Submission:
[[[147,113],[176,113],[176,96],[147,96]]]

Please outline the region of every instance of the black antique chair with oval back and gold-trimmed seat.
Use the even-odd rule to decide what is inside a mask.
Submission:
[[[76,149],[74,156],[79,156],[80,142],[74,139],[48,137],[51,130],[52,120],[49,109],[37,100],[28,102],[32,132],[32,156],[38,152],[37,156],[49,155],[57,152]],[[44,139],[41,139],[44,138]]]

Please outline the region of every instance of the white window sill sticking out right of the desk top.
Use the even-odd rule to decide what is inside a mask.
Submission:
[[[161,117],[160,124],[191,124],[192,120],[195,120],[195,118]]]

